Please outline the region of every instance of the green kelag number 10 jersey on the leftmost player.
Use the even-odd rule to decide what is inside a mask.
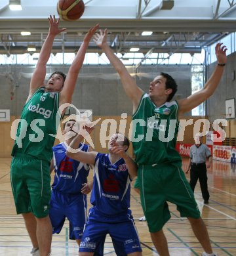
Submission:
[[[20,153],[40,160],[52,159],[55,137],[50,134],[56,135],[60,123],[56,122],[58,108],[59,93],[46,93],[44,87],[35,91],[22,110],[12,156]]]

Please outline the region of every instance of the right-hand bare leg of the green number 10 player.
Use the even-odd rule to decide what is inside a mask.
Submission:
[[[37,221],[37,241],[39,242],[39,251],[41,256],[48,256],[52,243],[52,224],[49,216],[36,218]]]

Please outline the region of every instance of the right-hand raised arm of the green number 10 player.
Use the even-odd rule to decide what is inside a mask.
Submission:
[[[98,28],[99,28],[99,24],[96,24],[96,26],[90,28],[88,33],[85,35],[85,38],[83,39],[83,43],[81,44],[81,47],[79,47],[79,51],[77,52],[75,59],[73,60],[69,68],[68,75],[66,76],[66,80],[64,82],[64,87],[60,92],[60,102],[59,102],[60,105],[64,103],[71,103],[72,95],[75,90],[77,77],[83,65],[88,44],[90,42],[90,39],[92,38],[92,36],[94,35],[94,33]]]

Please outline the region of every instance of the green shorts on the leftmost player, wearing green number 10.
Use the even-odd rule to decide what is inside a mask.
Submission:
[[[50,163],[16,154],[10,166],[10,182],[16,212],[33,213],[37,218],[49,214]]]

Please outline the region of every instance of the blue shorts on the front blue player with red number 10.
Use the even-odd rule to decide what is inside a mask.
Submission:
[[[120,219],[121,216],[118,217],[119,221]],[[142,251],[132,215],[125,213],[123,220],[123,222],[119,222],[115,217],[101,216],[94,211],[94,207],[90,209],[79,252],[96,253],[104,243],[107,234],[111,237],[115,253],[118,256]]]

